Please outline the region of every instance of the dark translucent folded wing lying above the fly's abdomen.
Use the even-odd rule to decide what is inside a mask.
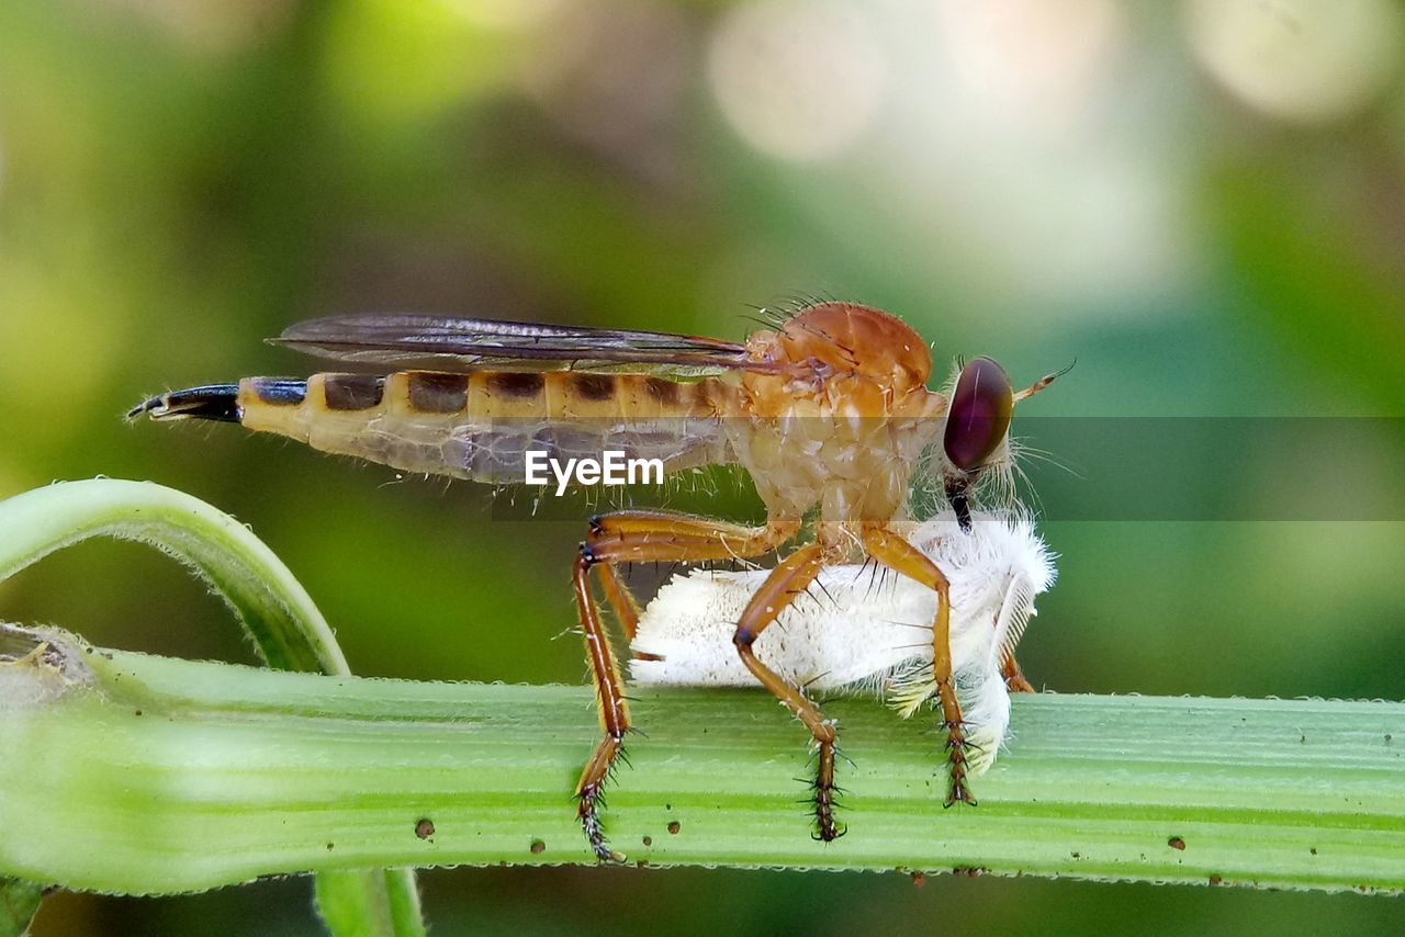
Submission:
[[[747,361],[745,346],[721,339],[414,313],[312,319],[270,341],[319,358],[423,371],[624,371],[688,378],[774,369]]]

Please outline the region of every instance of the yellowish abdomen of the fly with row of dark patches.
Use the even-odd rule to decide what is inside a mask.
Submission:
[[[407,472],[521,482],[525,452],[662,459],[673,472],[732,461],[721,431],[729,388],[638,374],[400,371],[244,378],[239,421],[325,452]]]

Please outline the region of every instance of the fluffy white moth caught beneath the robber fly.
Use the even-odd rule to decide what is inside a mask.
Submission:
[[[995,761],[1010,723],[1000,660],[1013,650],[1034,598],[1054,583],[1054,555],[1017,513],[975,513],[962,531],[948,511],[913,525],[909,539],[951,583],[951,666],[972,742],[972,773]],[[769,570],[674,576],[639,620],[629,670],[641,684],[756,686],[732,632]],[[874,693],[905,718],[936,694],[932,624],[937,596],[875,568],[825,569],[806,594],[762,632],[756,656],[801,687]]]

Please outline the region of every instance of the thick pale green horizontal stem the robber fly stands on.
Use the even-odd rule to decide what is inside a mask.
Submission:
[[[11,635],[11,657],[38,642]],[[586,688],[274,673],[45,636],[45,655],[0,669],[6,872],[159,893],[593,861],[570,798],[599,732]],[[1402,704],[1021,697],[981,805],[953,809],[930,716],[826,711],[851,759],[839,841],[811,840],[795,780],[809,753],[774,701],[648,690],[648,735],[610,791],[613,844],[655,865],[1405,888]]]

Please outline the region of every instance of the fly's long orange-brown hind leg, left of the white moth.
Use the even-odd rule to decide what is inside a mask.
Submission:
[[[705,517],[667,511],[620,511],[590,523],[590,537],[580,545],[573,584],[586,656],[596,687],[596,705],[603,736],[576,784],[577,816],[596,856],[604,861],[621,857],[610,850],[600,826],[600,795],[629,730],[629,707],[620,680],[620,664],[610,648],[600,610],[590,591],[590,570],[600,568],[607,597],[614,601],[628,593],[610,566],[621,562],[705,561],[729,556],[757,556],[783,544],[799,528],[798,523],[742,527]],[[625,631],[638,621],[632,597],[624,598],[621,620]],[[632,618],[632,621],[631,621]]]

